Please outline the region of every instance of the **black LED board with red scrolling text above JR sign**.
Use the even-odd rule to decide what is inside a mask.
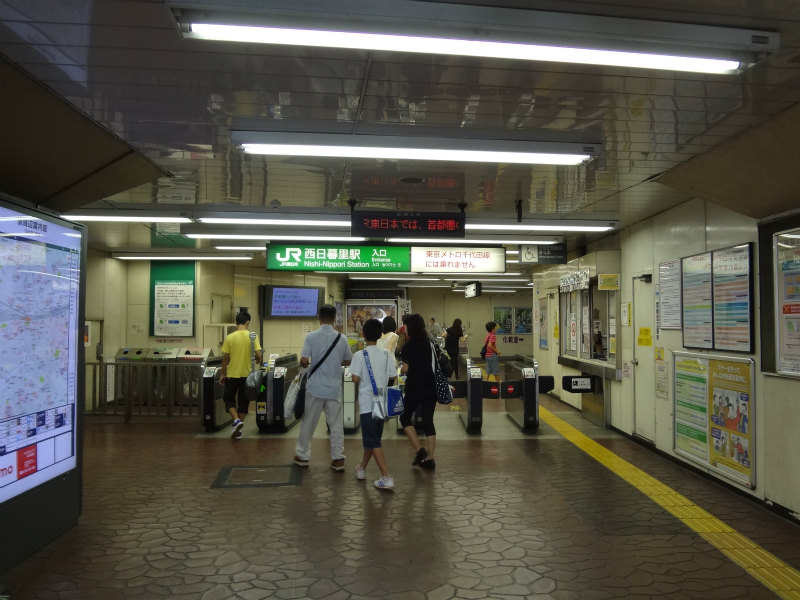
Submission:
[[[462,213],[355,211],[350,235],[361,237],[463,238]]]

